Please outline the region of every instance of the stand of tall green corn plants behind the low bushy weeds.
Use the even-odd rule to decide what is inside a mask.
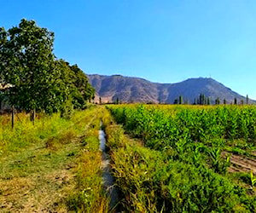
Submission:
[[[229,154],[233,151],[246,153],[255,147],[255,107],[110,107],[119,124],[132,136],[143,140],[146,147],[170,153],[195,165],[201,164],[219,174],[225,174],[230,166]],[[234,119],[233,119],[234,118]],[[233,119],[233,120],[232,120]],[[244,132],[250,138],[238,134],[244,122]],[[236,121],[236,122],[235,122]],[[228,136],[236,132],[236,137]],[[240,138],[237,142],[234,138]],[[230,147],[231,144],[231,147]],[[245,149],[245,150],[243,150]]]

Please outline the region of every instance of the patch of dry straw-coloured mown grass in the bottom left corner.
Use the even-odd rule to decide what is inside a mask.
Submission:
[[[1,209],[6,212],[67,212],[63,198],[73,191],[73,186],[73,174],[67,170],[1,181]]]

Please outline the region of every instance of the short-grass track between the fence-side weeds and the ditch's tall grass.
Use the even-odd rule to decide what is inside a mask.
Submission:
[[[88,118],[84,131],[93,119]],[[39,141],[0,159],[0,212],[68,211],[81,140],[69,128],[56,135],[61,136],[53,139],[52,147],[47,140]]]

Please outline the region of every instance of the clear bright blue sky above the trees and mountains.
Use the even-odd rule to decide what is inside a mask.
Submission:
[[[55,32],[55,56],[85,73],[177,83],[212,77],[256,100],[255,0],[0,0]]]

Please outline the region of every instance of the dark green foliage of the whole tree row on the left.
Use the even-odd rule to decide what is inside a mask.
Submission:
[[[11,105],[29,112],[57,112],[72,97],[75,108],[85,108],[95,90],[77,65],[55,60],[54,33],[21,20],[19,26],[0,28],[0,80]],[[65,107],[65,106],[64,106]]]

